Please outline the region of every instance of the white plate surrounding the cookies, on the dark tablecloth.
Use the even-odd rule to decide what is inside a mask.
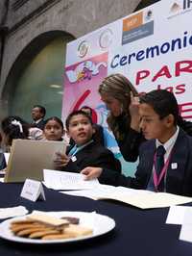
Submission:
[[[101,236],[103,234],[108,233],[115,227],[115,221],[108,216],[99,215],[96,213],[85,213],[85,212],[59,212],[59,213],[49,213],[49,215],[54,217],[76,217],[80,218],[80,224],[85,227],[89,227],[93,229],[93,234],[89,236],[79,237],[75,239],[64,239],[64,240],[40,240],[40,239],[28,239],[16,237],[12,234],[10,230],[10,224],[13,220],[22,220],[26,217],[17,217],[10,218],[2,223],[0,223],[0,237],[9,241],[17,242],[17,243],[71,243],[77,241],[83,241],[91,238],[95,238]]]

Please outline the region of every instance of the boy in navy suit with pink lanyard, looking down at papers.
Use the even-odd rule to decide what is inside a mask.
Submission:
[[[100,177],[105,183],[154,192],[192,196],[192,138],[177,125],[179,106],[173,93],[153,90],[140,97],[140,146],[135,177],[105,168],[84,168],[86,179]]]

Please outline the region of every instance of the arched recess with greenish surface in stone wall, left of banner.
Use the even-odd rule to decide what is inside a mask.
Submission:
[[[64,32],[47,32],[22,51],[3,90],[5,115],[20,115],[30,121],[31,108],[40,104],[47,109],[47,116],[60,116],[65,48],[72,39]]]

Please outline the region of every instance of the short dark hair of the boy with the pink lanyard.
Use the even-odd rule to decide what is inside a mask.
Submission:
[[[140,103],[150,105],[159,118],[174,115],[174,124],[179,121],[179,106],[174,94],[168,90],[152,90],[140,97]]]

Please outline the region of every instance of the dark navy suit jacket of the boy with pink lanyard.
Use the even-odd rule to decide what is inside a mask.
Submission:
[[[145,190],[152,175],[156,141],[143,142],[140,146],[139,165],[135,178],[125,177],[105,169],[102,173],[104,183]],[[172,168],[177,163],[177,168]],[[180,129],[178,139],[173,147],[172,156],[165,178],[166,192],[192,196],[192,137]]]

